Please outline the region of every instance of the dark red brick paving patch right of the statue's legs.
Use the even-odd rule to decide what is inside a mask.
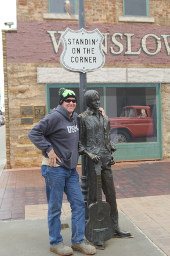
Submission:
[[[113,177],[117,199],[170,194],[170,162],[117,164]]]

